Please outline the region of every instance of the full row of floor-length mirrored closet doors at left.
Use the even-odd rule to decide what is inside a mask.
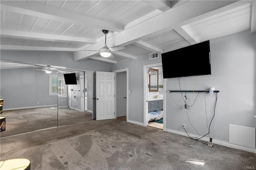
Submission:
[[[88,92],[90,97],[93,92],[91,85],[89,91],[87,88],[88,75],[93,80],[92,72],[0,64],[0,98],[4,99],[1,117],[6,117],[1,137],[92,120],[93,108],[87,101]],[[66,83],[69,80],[65,81],[65,75],[70,73],[75,75],[76,84]]]

